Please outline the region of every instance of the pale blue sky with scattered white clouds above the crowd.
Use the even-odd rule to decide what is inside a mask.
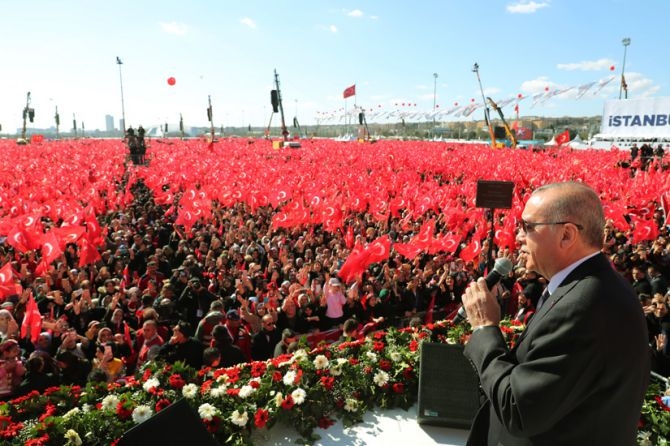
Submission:
[[[506,116],[601,115],[622,69],[629,98],[670,95],[667,0],[0,0],[0,16],[0,133],[21,127],[28,92],[29,129],[56,108],[61,130],[118,127],[122,110],[134,127],[209,126],[208,98],[217,128],[267,126],[275,70],[287,125],[481,103],[474,63],[485,96],[516,98]]]

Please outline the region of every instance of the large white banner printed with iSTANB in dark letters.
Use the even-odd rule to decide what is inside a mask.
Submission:
[[[602,136],[670,138],[670,97],[605,101]]]

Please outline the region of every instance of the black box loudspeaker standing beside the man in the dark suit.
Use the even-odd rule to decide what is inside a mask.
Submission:
[[[419,424],[469,429],[479,410],[479,378],[463,346],[421,344]]]

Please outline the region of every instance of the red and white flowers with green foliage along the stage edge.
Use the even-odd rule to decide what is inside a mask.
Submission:
[[[523,326],[503,321],[513,344]],[[467,323],[389,329],[366,339],[298,350],[265,362],[193,370],[151,363],[125,384],[62,386],[0,404],[0,441],[10,445],[115,445],[124,432],[184,398],[205,428],[226,445],[253,445],[277,423],[293,426],[298,442],[318,440],[316,428],[344,426],[375,407],[409,409],[418,393],[422,342],[464,343]],[[670,409],[650,386],[639,444],[666,444]]]

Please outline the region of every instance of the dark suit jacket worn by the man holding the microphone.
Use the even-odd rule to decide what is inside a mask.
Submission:
[[[511,351],[484,327],[465,346],[487,397],[468,445],[634,445],[649,380],[630,285],[599,254],[573,270]]]

